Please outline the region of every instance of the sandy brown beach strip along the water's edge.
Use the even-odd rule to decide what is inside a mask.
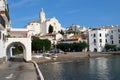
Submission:
[[[32,58],[37,63],[48,63],[48,62],[64,62],[64,61],[75,61],[82,58],[89,57],[107,57],[111,56],[109,53],[83,53],[83,52],[67,52],[67,54],[58,54],[56,59],[46,59],[44,57]]]

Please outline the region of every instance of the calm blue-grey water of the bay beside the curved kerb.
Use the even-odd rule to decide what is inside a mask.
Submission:
[[[45,80],[120,80],[120,56],[39,64]]]

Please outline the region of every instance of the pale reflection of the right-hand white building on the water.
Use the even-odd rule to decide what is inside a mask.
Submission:
[[[89,74],[95,80],[109,80],[107,65],[108,59],[104,57],[91,58],[89,64]]]

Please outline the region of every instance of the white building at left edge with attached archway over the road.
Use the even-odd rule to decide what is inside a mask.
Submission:
[[[0,0],[0,62],[12,57],[14,45],[23,48],[23,58],[31,60],[31,38],[27,29],[12,29],[10,26],[9,10],[6,0]],[[10,34],[8,38],[8,35]]]

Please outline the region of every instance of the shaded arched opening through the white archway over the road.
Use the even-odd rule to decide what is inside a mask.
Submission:
[[[24,61],[25,53],[26,48],[21,42],[13,42],[9,44],[6,49],[6,56],[8,60]]]

